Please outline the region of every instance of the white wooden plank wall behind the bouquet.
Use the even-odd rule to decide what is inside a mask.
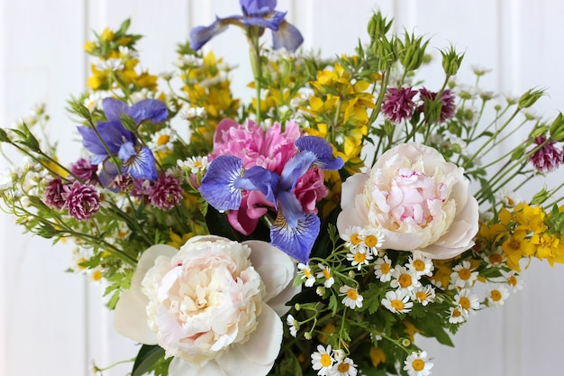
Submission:
[[[132,18],[132,32],[146,36],[141,61],[152,73],[171,69],[175,46],[191,27],[214,14],[239,13],[237,0],[17,0],[0,2],[0,125],[9,126],[39,102],[46,103],[53,134],[76,141],[74,124],[62,110],[88,74],[82,47],[91,31],[116,28]],[[541,114],[564,109],[564,3],[559,0],[280,0],[278,9],[304,33],[305,46],[324,55],[350,52],[364,37],[370,11],[396,16],[397,25],[432,37],[432,45],[454,43],[469,64],[495,69],[483,81],[504,93],[546,87]],[[242,69],[234,82],[242,97],[250,81],[247,49],[232,29],[209,44]],[[432,76],[430,76],[432,79]],[[67,146],[65,146],[67,148]],[[60,156],[74,160],[76,146]],[[0,161],[0,168],[5,162]],[[561,174],[561,172],[560,172]],[[553,178],[553,179],[562,179]],[[101,287],[64,273],[70,248],[22,235],[0,214],[0,376],[86,376],[91,363],[106,366],[137,348],[115,335],[103,307]],[[434,357],[434,375],[534,376],[562,374],[564,265],[550,270],[533,262],[524,290],[502,309],[473,317],[450,349],[424,341]],[[123,375],[126,364],[107,375]]]

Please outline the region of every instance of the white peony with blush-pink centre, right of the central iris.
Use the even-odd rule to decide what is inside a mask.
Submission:
[[[439,151],[402,143],[386,151],[368,173],[342,184],[337,228],[378,228],[386,247],[449,259],[468,250],[478,233],[478,202],[464,170]]]

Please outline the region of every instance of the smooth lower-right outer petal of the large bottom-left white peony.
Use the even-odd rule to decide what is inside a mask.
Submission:
[[[282,320],[266,304],[258,317],[257,329],[243,344],[233,345],[217,362],[228,376],[263,376],[270,371],[280,352]]]

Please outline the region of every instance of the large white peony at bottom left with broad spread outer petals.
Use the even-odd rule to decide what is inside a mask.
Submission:
[[[115,307],[116,330],[173,356],[168,374],[266,375],[282,343],[295,264],[260,241],[196,236],[154,245]]]

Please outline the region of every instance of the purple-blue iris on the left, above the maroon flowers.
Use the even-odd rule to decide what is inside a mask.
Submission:
[[[135,133],[126,129],[121,121],[123,116],[130,117],[135,125],[149,121],[159,124],[168,117],[167,106],[156,99],[144,99],[130,106],[117,99],[108,97],[102,103],[107,122],[98,122],[96,131],[88,126],[78,126],[82,135],[82,144],[94,156],[92,164],[103,163],[99,175],[100,182],[109,187],[116,176],[129,174],[134,179],[157,179],[155,157],[147,146],[141,145]],[[122,165],[115,166],[111,156],[122,160]]]

